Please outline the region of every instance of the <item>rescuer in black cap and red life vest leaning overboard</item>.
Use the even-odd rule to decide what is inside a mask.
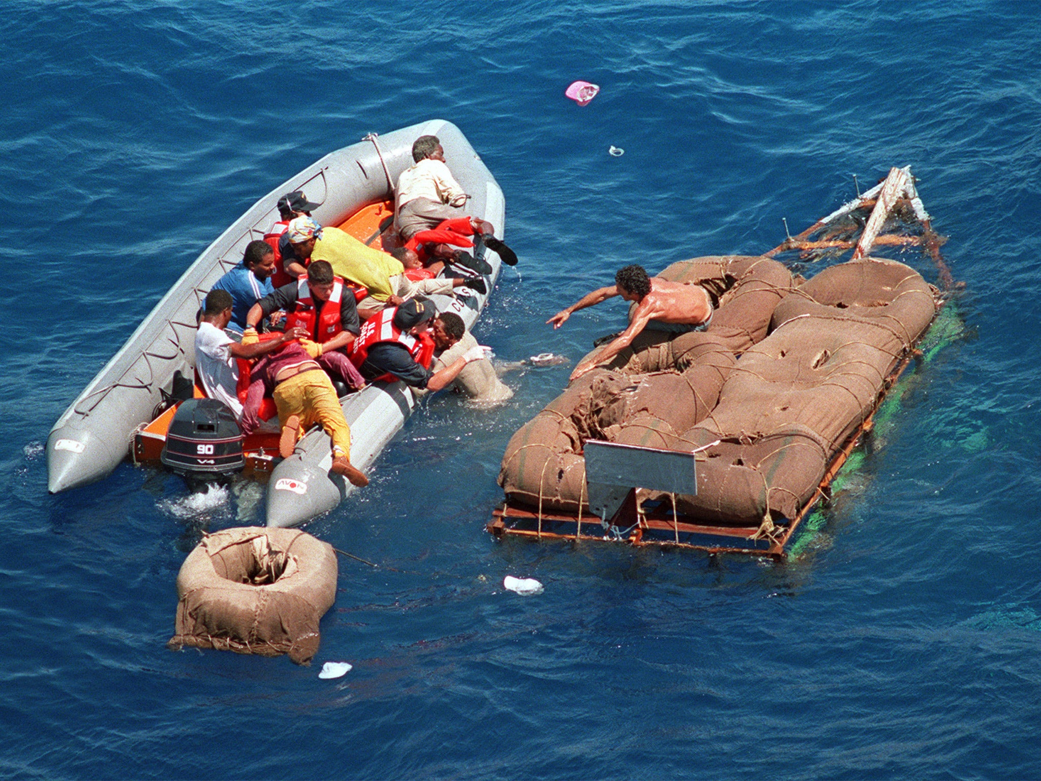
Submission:
[[[440,391],[467,363],[483,358],[484,351],[475,348],[443,369],[430,371],[434,341],[429,327],[435,314],[430,301],[414,298],[384,309],[361,327],[361,333],[351,345],[351,361],[369,381],[400,379],[412,387]]]

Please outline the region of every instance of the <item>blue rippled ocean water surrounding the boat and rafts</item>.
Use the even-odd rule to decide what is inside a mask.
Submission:
[[[1039,10],[8,0],[0,776],[1041,776]],[[506,195],[502,359],[584,354],[619,306],[544,321],[619,264],[765,251],[905,165],[963,334],[799,560],[496,543],[506,442],[569,371],[529,369],[503,409],[433,399],[307,527],[380,564],[340,559],[314,665],[167,651],[187,551],[261,495],[124,464],[51,497],[50,426],[256,198],[435,117]]]

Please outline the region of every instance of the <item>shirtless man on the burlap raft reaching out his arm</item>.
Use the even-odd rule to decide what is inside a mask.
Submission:
[[[572,312],[585,309],[614,296],[636,303],[629,327],[599,353],[581,361],[572,372],[572,381],[591,372],[629,347],[649,325],[676,332],[704,331],[712,321],[712,297],[701,285],[669,282],[649,277],[642,266],[627,266],[614,275],[614,284],[587,293],[577,303],[561,309],[547,323],[560,328]]]

